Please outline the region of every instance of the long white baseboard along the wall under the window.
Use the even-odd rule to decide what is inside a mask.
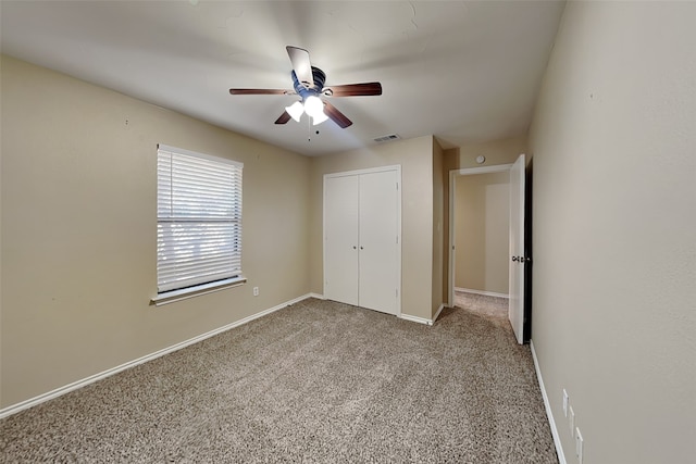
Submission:
[[[89,384],[94,384],[94,383],[96,383],[98,380],[101,380],[103,378],[107,378],[109,376],[117,374],[117,373],[120,373],[122,371],[128,369],[130,367],[135,367],[135,366],[137,366],[139,364],[142,364],[142,363],[147,363],[148,361],[156,360],[156,359],[158,359],[160,356],[163,356],[165,354],[169,354],[169,353],[172,353],[174,351],[181,350],[182,348],[186,348],[189,344],[194,344],[194,343],[197,343],[199,341],[206,340],[207,338],[210,338],[210,337],[213,337],[215,335],[222,334],[224,331],[227,331],[227,330],[233,329],[235,327],[238,327],[240,325],[247,324],[247,323],[249,323],[249,322],[251,322],[253,319],[258,319],[259,317],[263,317],[263,316],[265,316],[268,314],[271,314],[271,313],[273,313],[275,311],[282,310],[283,308],[286,308],[286,306],[288,306],[290,304],[300,302],[302,300],[307,300],[308,298],[320,298],[320,299],[323,299],[323,297],[321,297],[319,294],[308,293],[308,294],[304,294],[302,297],[298,297],[298,298],[296,298],[294,300],[286,301],[285,303],[281,303],[281,304],[276,305],[276,306],[273,306],[273,308],[270,308],[268,310],[261,311],[260,313],[252,314],[252,315],[250,315],[248,317],[245,317],[245,318],[239,319],[237,322],[234,322],[232,324],[227,324],[227,325],[225,325],[223,327],[216,328],[214,330],[210,330],[210,331],[208,331],[206,334],[201,334],[201,335],[199,335],[197,337],[190,338],[188,340],[185,340],[185,341],[182,341],[179,343],[173,344],[171,347],[164,348],[162,350],[156,351],[154,353],[147,354],[147,355],[145,355],[142,358],[138,358],[137,360],[133,360],[133,361],[129,361],[127,363],[121,364],[120,366],[112,367],[110,369],[100,372],[99,374],[95,374],[95,375],[91,375],[89,377],[86,377],[86,378],[84,378],[82,380],[77,380],[77,381],[74,381],[72,384],[65,385],[63,387],[57,388],[57,389],[51,390],[51,391],[49,391],[47,393],[39,394],[38,397],[29,398],[28,400],[24,400],[24,401],[22,401],[20,403],[11,405],[11,406],[3,407],[3,409],[0,410],[0,418],[10,416],[12,414],[16,414],[20,411],[27,410],[29,407],[36,406],[37,404],[40,404],[40,403],[44,403],[46,401],[52,400],[53,398],[58,398],[60,396],[63,396],[65,393],[71,392],[71,391],[74,391],[74,390],[77,390],[79,388],[86,387]]]

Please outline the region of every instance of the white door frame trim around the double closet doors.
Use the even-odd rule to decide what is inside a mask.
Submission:
[[[325,279],[325,269],[326,269],[326,214],[325,214],[325,209],[326,209],[326,202],[325,202],[325,198],[326,198],[326,179],[327,178],[332,178],[332,177],[345,177],[345,176],[358,176],[361,174],[373,174],[373,173],[382,173],[382,172],[386,172],[386,171],[396,171],[396,179],[397,179],[397,195],[396,195],[396,222],[397,222],[397,294],[396,294],[396,316],[397,317],[401,317],[401,278],[402,278],[402,272],[401,272],[401,243],[402,243],[402,239],[401,239],[401,192],[402,192],[402,180],[401,180],[401,165],[400,164],[393,164],[393,165],[388,165],[388,166],[375,166],[375,167],[368,167],[368,168],[363,168],[363,170],[353,170],[353,171],[343,171],[343,172],[338,172],[338,173],[328,173],[328,174],[324,174],[323,179],[322,179],[322,291],[324,294],[326,294],[325,289],[323,289],[326,279]]]

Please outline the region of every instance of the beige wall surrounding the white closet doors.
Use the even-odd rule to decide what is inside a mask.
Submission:
[[[311,289],[323,293],[324,174],[401,165],[401,313],[430,319],[433,305],[433,143],[431,136],[312,159]]]

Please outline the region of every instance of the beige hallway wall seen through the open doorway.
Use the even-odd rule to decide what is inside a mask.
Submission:
[[[510,173],[455,178],[455,286],[508,293]]]

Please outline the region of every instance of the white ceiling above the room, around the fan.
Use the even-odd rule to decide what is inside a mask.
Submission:
[[[388,134],[451,148],[526,131],[563,5],[2,0],[0,39],[5,54],[308,155]],[[273,124],[297,97],[228,89],[291,89],[287,45],[327,86],[378,80],[383,95],[333,98],[347,129]]]

